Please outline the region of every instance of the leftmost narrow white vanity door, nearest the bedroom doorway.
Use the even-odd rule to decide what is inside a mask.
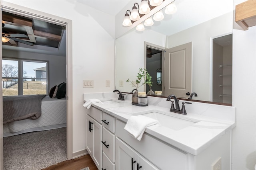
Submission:
[[[92,157],[92,118],[86,115],[86,150]]]

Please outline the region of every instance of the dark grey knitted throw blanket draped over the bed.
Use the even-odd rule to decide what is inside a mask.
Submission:
[[[3,124],[23,119],[37,119],[41,115],[42,99],[46,95],[3,97]]]

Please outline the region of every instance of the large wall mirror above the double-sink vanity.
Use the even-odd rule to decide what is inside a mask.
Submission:
[[[193,95],[192,100],[232,104],[233,2],[231,0],[175,0],[174,2],[177,6],[175,14],[164,14],[164,20],[154,21],[154,25],[145,26],[144,31],[133,28],[116,39],[116,89],[131,92],[134,87],[126,80],[128,78],[136,80],[139,68],[151,70],[150,75],[155,76],[155,79],[158,78],[156,75],[159,75],[160,69],[161,84],[154,80],[152,90],[162,91],[163,96],[174,94],[188,99],[194,92],[197,95]],[[182,45],[189,45],[191,48],[191,62],[187,63],[184,56],[184,60],[177,60],[182,64],[173,64],[176,48],[184,48]],[[160,53],[152,53],[147,59],[147,49]],[[169,49],[174,51],[170,52]],[[156,59],[156,61],[154,57],[161,60]],[[172,62],[166,62],[168,57]],[[150,60],[158,64],[150,63]],[[172,68],[168,68],[170,65]],[[185,65],[189,65],[190,70],[184,71]],[[187,74],[191,76],[188,78],[189,85],[173,78],[177,76],[184,80]],[[190,89],[183,90],[186,94],[183,97],[175,94],[176,92],[168,91],[172,87],[182,89],[187,86]],[[146,87],[142,86],[138,90],[146,91]]]

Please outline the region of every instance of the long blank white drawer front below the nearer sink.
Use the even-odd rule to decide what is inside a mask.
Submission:
[[[188,154],[144,133],[141,141],[124,130],[126,123],[116,119],[116,136],[162,170],[187,170]],[[168,161],[168,164],[166,164]]]

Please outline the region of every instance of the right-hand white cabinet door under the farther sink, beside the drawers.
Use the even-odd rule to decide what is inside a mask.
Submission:
[[[102,168],[102,125],[96,120],[92,119],[93,123],[93,154],[92,159],[98,169]]]

